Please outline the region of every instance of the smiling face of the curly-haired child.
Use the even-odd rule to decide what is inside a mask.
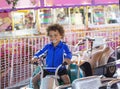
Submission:
[[[50,31],[49,32],[49,38],[50,38],[50,41],[52,41],[54,45],[57,45],[60,42],[62,36],[56,30],[56,31]]]

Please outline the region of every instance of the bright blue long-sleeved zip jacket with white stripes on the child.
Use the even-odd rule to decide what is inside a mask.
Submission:
[[[68,46],[62,41],[54,47],[52,43],[45,45],[45,47],[35,53],[34,57],[39,58],[47,52],[46,66],[47,67],[58,67],[63,63],[64,58],[71,59],[72,53]],[[53,71],[55,72],[55,70]]]

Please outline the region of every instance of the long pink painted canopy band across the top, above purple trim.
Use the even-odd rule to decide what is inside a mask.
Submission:
[[[0,10],[55,6],[119,4],[119,0],[0,0]]]

